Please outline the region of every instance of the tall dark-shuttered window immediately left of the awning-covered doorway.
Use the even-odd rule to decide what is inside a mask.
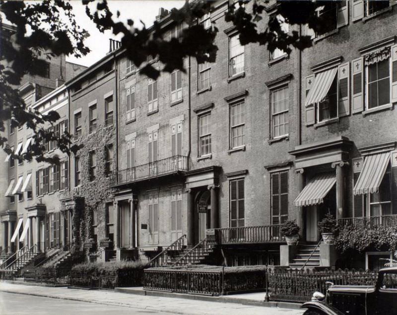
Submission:
[[[288,220],[288,171],[271,173],[271,224]]]

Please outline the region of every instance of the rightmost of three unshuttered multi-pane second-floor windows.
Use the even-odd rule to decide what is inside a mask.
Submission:
[[[288,135],[288,86],[270,93],[272,137]]]

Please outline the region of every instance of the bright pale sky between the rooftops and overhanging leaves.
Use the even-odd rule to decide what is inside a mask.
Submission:
[[[85,45],[91,49],[91,52],[82,58],[74,56],[66,57],[66,61],[76,63],[83,66],[90,66],[109,51],[109,38],[120,40],[110,30],[101,33],[95,24],[85,14],[85,6],[81,4],[81,0],[72,0],[73,11],[76,16],[76,22],[91,35],[85,39]],[[160,7],[171,9],[173,7],[180,8],[184,5],[185,0],[108,0],[109,8],[114,13],[116,21],[126,22],[127,19],[134,21],[134,26],[141,28],[141,20],[146,27],[153,24]],[[95,5],[92,6],[93,8]],[[117,10],[120,11],[120,18],[117,19]]]

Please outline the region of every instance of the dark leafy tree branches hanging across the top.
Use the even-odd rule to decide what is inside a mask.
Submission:
[[[199,63],[216,61],[218,47],[215,38],[219,33],[216,22],[212,21],[208,29],[199,23],[201,17],[214,9],[212,1],[186,1],[181,9],[172,9],[170,20],[183,23],[184,28],[180,38],[171,39],[165,36],[158,21],[149,28],[137,29],[131,19],[126,24],[115,21],[106,0],[95,2],[95,10],[90,9],[90,2],[93,0],[82,0],[86,14],[100,31],[109,29],[115,35],[123,35],[122,49],[140,69],[141,75],[156,79],[161,72],[170,73],[175,69],[185,72],[184,60],[188,57]],[[229,4],[224,18],[240,33],[242,45],[265,45],[269,51],[278,48],[290,54],[294,48],[302,50],[311,46],[311,39],[298,30],[284,33],[278,16],[290,25],[308,24],[314,31],[321,31],[329,21],[318,16],[316,9],[331,3],[276,1],[270,4],[263,0],[240,0]],[[46,60],[51,61],[54,56],[86,55],[89,48],[85,46],[84,38],[88,34],[78,25],[71,4],[65,0],[0,1],[0,10],[7,22],[15,26],[14,35],[0,34],[0,58],[4,61],[0,65],[0,132],[5,131],[4,124],[8,121],[13,127],[26,124],[33,130],[35,142],[32,151],[22,158],[54,162],[54,157],[45,154],[44,141],[58,141],[60,149],[66,153],[75,152],[78,147],[72,146],[69,134],[57,139],[53,132],[44,129],[44,125],[54,123],[59,115],[55,112],[48,115],[29,112],[17,86],[25,75],[43,76]],[[265,18],[265,15],[270,18]],[[119,16],[120,12],[117,12]],[[158,58],[162,68],[157,69],[147,63],[149,56]],[[10,153],[4,133],[0,137],[0,145]]]

